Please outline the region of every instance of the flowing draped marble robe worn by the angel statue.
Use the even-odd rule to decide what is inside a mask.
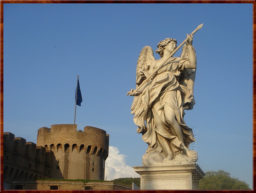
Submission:
[[[175,118],[182,129],[184,144],[188,147],[191,142],[195,141],[192,129],[186,125],[183,119],[184,109],[193,101],[192,92],[177,81],[187,60],[177,57],[170,58],[145,86],[141,94],[143,105],[140,105],[136,112],[132,112],[135,114],[134,122],[138,125],[137,132],[143,134],[142,139],[149,145],[147,152],[155,150],[167,155],[168,150],[164,147],[164,140],[170,144],[169,148],[174,156],[183,150],[181,141],[166,120],[165,105],[169,105],[175,111]],[[143,79],[150,74],[149,71],[140,72]]]

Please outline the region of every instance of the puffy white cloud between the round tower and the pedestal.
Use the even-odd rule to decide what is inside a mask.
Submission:
[[[140,177],[134,168],[126,165],[126,155],[120,154],[117,147],[109,146],[108,157],[105,162],[105,177],[107,180],[116,178]]]

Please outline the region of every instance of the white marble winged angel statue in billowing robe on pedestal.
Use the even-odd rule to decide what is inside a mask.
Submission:
[[[150,46],[140,53],[136,87],[142,83],[143,86],[132,89],[127,95],[135,96],[131,113],[138,125],[137,132],[142,133],[142,139],[148,144],[143,165],[185,164],[197,156],[195,151],[188,149],[195,139],[184,121],[184,110],[192,109],[195,104],[196,54],[192,42],[193,35],[187,34],[180,57],[170,57],[177,48],[177,41],[172,38],[157,45],[159,60],[154,58]],[[146,80],[160,65],[162,67]]]

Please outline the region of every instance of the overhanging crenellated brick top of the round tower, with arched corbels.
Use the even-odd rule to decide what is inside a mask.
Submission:
[[[77,131],[75,124],[56,124],[51,125],[51,128],[42,127],[37,132],[37,145],[44,146],[46,150],[64,153],[72,147],[72,152],[74,149],[77,153],[84,150],[103,156],[104,160],[108,156],[108,141],[106,131],[91,126],[84,127],[84,131]]]

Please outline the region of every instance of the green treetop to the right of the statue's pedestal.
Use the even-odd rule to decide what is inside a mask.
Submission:
[[[201,190],[251,190],[249,184],[238,178],[231,178],[230,173],[223,170],[208,171],[203,179],[199,180]]]

